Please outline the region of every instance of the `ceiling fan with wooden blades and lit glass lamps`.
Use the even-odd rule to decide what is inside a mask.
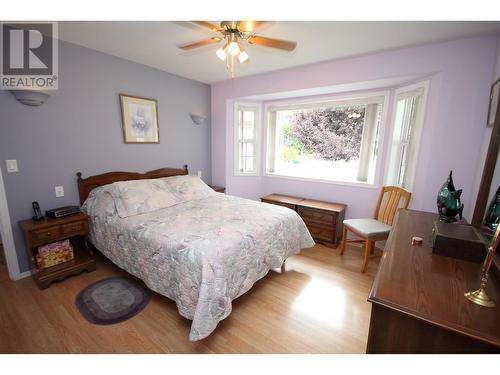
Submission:
[[[249,61],[248,53],[244,48],[245,43],[277,48],[285,51],[293,51],[297,46],[296,42],[256,35],[254,33],[255,28],[266,23],[265,21],[222,21],[220,26],[207,21],[192,22],[199,26],[208,28],[218,35],[198,42],[183,44],[179,46],[179,48],[184,51],[188,51],[194,48],[224,41],[224,45],[217,50],[216,55],[219,59],[226,62],[226,67],[231,78],[234,78],[235,58],[237,58],[240,63]]]

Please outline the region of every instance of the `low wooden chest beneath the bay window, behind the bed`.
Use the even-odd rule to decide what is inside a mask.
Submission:
[[[300,215],[316,242],[336,247],[342,240],[345,204],[270,194],[262,202],[288,207]]]

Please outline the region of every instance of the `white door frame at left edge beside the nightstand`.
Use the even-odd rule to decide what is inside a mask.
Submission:
[[[5,194],[5,187],[3,184],[2,168],[0,168],[0,234],[2,236],[3,251],[5,253],[9,277],[11,280],[19,280],[23,275],[21,275],[19,270],[19,261],[17,259],[14,235],[10,222],[7,195]]]

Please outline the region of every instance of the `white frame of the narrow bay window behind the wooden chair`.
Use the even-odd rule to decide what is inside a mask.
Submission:
[[[384,178],[384,183],[385,185],[394,185],[394,186],[401,186],[406,190],[413,190],[414,184],[415,184],[415,176],[417,174],[417,160],[418,160],[418,155],[420,154],[420,147],[421,147],[421,141],[422,141],[422,134],[423,134],[423,128],[424,128],[424,123],[425,123],[425,117],[426,117],[426,108],[427,108],[427,98],[429,94],[429,87],[430,87],[430,79],[424,80],[424,81],[419,81],[415,82],[409,85],[405,86],[400,86],[394,90],[394,98],[392,101],[392,115],[391,115],[391,122],[390,122],[390,133],[389,133],[389,139],[387,140],[387,155],[386,155],[386,166],[385,166],[385,178]],[[405,179],[407,181],[407,184],[405,186],[402,186],[398,184],[398,178],[399,174],[401,171],[401,162],[402,162],[402,155],[401,155],[401,146],[400,145],[394,145],[394,135],[396,131],[396,115],[397,115],[397,106],[398,106],[398,101],[400,100],[399,97],[401,95],[404,95],[405,93],[411,93],[412,91],[417,91],[417,90],[423,90],[422,96],[421,96],[421,101],[420,101],[420,108],[418,109],[417,113],[417,118],[415,120],[415,124],[413,126],[413,135],[412,138],[414,139],[412,150],[414,154],[412,155],[413,163],[408,163],[406,165],[406,176]],[[410,141],[411,143],[411,141]],[[396,167],[399,165],[399,167]]]

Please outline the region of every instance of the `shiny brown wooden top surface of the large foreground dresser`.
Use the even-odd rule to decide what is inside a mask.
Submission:
[[[437,214],[401,209],[387,241],[368,300],[500,347],[500,287],[491,277],[487,292],[497,306],[478,306],[464,293],[478,289],[480,263],[432,254]],[[412,246],[413,236],[422,247]]]

